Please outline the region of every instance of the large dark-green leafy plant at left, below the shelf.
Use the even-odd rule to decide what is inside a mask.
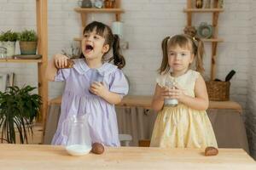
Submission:
[[[32,134],[33,120],[38,116],[42,104],[38,94],[31,94],[31,86],[18,88],[8,87],[4,93],[0,92],[0,141],[16,143],[16,133],[20,136],[20,143],[27,143],[27,135]]]

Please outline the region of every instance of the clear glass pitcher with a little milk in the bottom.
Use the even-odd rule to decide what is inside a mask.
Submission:
[[[91,150],[88,114],[72,116],[62,123],[62,135],[67,138],[66,150],[72,156],[84,156]]]

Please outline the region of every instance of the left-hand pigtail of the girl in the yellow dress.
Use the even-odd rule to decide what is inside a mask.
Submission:
[[[160,68],[158,69],[159,73],[161,74],[163,71],[169,71],[169,66],[168,66],[168,52],[167,52],[167,45],[168,45],[168,40],[170,37],[165,37],[162,41],[162,52],[163,52],[163,59]]]

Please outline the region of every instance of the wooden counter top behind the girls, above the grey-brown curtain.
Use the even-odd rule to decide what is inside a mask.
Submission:
[[[145,109],[151,109],[151,101],[153,96],[143,96],[143,95],[127,95],[122,99],[121,103],[117,106],[127,106],[127,107],[143,107]],[[49,105],[61,105],[61,97],[51,99]],[[241,105],[235,101],[210,101],[209,109],[231,109],[236,110],[241,113]]]

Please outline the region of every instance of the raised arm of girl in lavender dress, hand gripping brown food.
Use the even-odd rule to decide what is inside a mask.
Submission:
[[[67,56],[62,54],[55,54],[53,59],[50,59],[46,67],[45,76],[49,81],[55,80],[55,75],[58,68],[62,68],[67,65]]]

